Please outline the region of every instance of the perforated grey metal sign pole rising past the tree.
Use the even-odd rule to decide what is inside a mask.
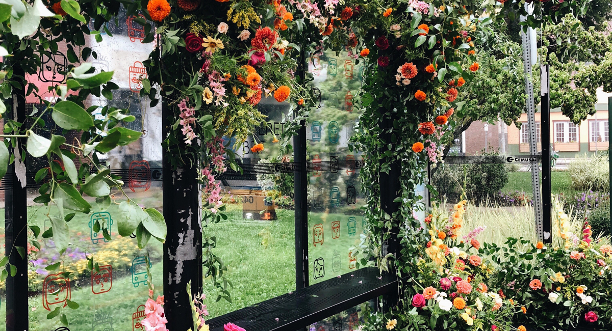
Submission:
[[[526,9],[529,13],[532,12],[533,7],[529,4],[525,4]],[[521,21],[525,21],[526,17],[521,16]],[[525,92],[527,94],[527,124],[529,129],[529,152],[532,157],[537,155],[537,136],[535,134],[535,104],[534,104],[534,87],[531,83],[531,66],[535,64],[537,60],[537,53],[535,53],[535,31],[531,27],[528,27],[527,33],[521,29],[521,41],[523,42],[523,65],[525,71]],[[542,195],[540,192],[540,173],[537,162],[531,163],[531,181],[533,184],[534,191],[534,212],[535,212],[535,227],[537,230],[538,238],[544,239],[544,230],[542,224]]]

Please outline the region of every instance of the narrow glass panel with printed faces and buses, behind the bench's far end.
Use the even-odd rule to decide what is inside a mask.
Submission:
[[[315,54],[308,70],[313,89],[320,92],[319,107],[310,111],[306,136],[308,160],[313,163],[308,187],[308,258],[310,284],[355,270],[351,247],[360,242],[364,216],[360,206],[359,169],[362,156],[348,149],[359,117],[362,64],[347,53]]]

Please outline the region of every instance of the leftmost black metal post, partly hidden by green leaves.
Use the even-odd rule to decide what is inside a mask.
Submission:
[[[17,66],[18,67],[18,66]],[[23,76],[23,71],[15,75]],[[23,123],[26,118],[26,97],[24,90],[15,89],[13,94],[13,107],[7,109],[6,117]],[[14,113],[13,113],[14,111]],[[5,138],[6,139],[6,138]],[[13,138],[15,139],[15,138]],[[0,143],[3,144],[3,143]],[[4,233],[6,235],[5,254],[9,256],[9,263],[17,267],[15,277],[6,279],[6,329],[7,331],[27,331],[28,330],[28,260],[21,258],[17,250],[13,247],[28,247],[28,207],[26,205],[26,183],[17,178],[15,173],[15,163],[17,158],[21,158],[21,150],[18,145],[15,148],[15,162],[9,165],[9,169],[4,176],[10,180],[10,184],[4,191]],[[25,148],[25,146],[23,146]],[[9,148],[10,149],[10,148]],[[24,161],[24,160],[23,160]],[[23,164],[25,171],[25,165]],[[10,271],[7,265],[7,271]]]

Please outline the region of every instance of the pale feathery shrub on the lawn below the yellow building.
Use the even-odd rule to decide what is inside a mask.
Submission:
[[[572,189],[577,191],[610,191],[610,163],[608,156],[577,156],[567,166],[572,179]]]

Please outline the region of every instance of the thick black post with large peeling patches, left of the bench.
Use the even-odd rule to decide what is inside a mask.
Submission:
[[[162,103],[162,133],[168,136],[171,109]],[[202,291],[202,229],[197,169],[173,169],[168,151],[163,153],[163,217],[168,234],[163,245],[163,294],[168,329],[193,329],[190,296]],[[192,293],[187,293],[191,281]]]

